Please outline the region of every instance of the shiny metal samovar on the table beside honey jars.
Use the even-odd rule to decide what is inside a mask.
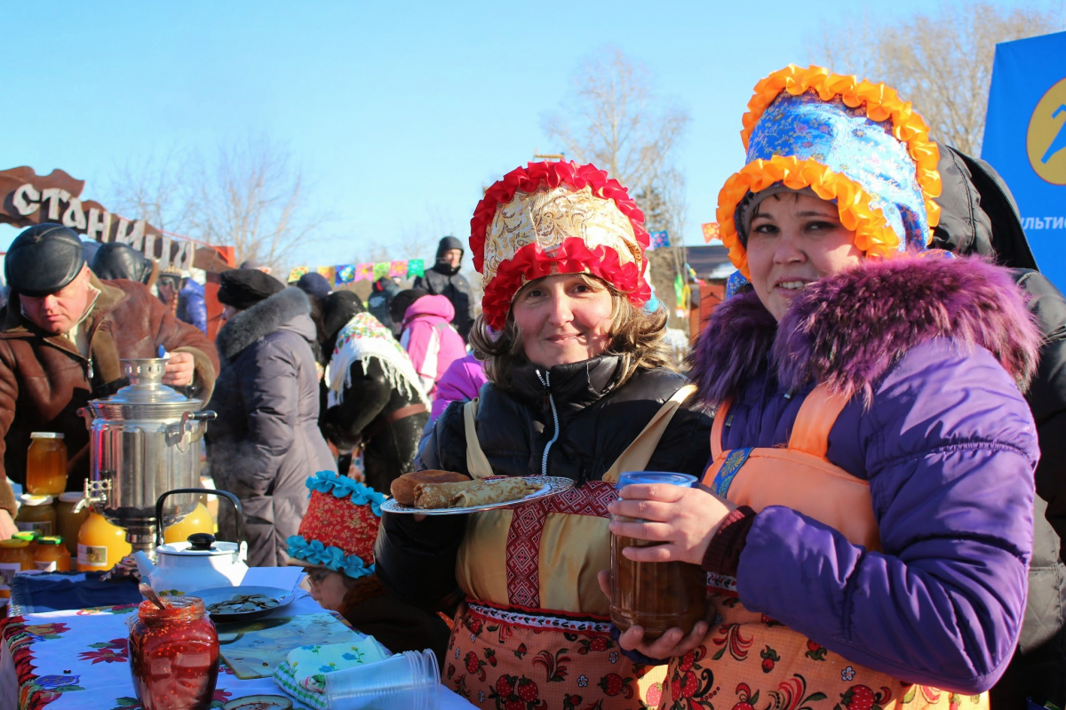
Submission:
[[[134,551],[156,559],[156,501],[167,490],[199,488],[199,441],[214,413],[163,384],[165,358],[122,360],[130,384],[92,400],[90,478],[85,501],[108,521],[126,529]],[[197,497],[171,496],[163,526],[192,513]]]

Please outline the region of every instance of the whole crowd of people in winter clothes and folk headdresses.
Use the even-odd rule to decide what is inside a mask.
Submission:
[[[307,567],[323,606],[432,648],[478,707],[1063,707],[1066,300],[1007,187],[890,87],[818,67],[760,81],[743,126],[717,209],[737,273],[683,368],[641,210],[594,165],[485,191],[480,304],[454,237],[367,303],[245,263],[220,276],[213,343],[195,281],[28,229],[5,262],[2,472],[20,483],[30,433],[63,432],[80,490],[77,409],[162,349],[166,384],[219,415],[209,470],[249,564]],[[383,514],[422,469],[574,488]],[[699,485],[618,488],[627,471]],[[612,624],[612,535],[700,567],[706,617]]]

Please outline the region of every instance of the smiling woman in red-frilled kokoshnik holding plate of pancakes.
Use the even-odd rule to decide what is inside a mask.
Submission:
[[[471,220],[485,297],[470,341],[488,383],[445,410],[419,467],[575,488],[469,516],[385,513],[376,559],[398,596],[461,602],[442,680],[481,708],[621,710],[656,707],[663,691],[665,668],[632,663],[611,639],[596,577],[618,473],[698,474],[708,456],[710,421],[667,367],[665,313],[642,310],[642,223],[607,173],[562,162],[512,171]],[[647,446],[630,447],[660,412]]]

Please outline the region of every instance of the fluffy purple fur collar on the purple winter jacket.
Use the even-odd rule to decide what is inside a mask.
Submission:
[[[1024,391],[1036,371],[1040,336],[1011,273],[976,257],[905,256],[808,286],[780,324],[754,292],[715,309],[690,356],[700,398],[736,397],[769,362],[782,386],[826,383],[863,392],[909,349],[952,338],[991,352]]]

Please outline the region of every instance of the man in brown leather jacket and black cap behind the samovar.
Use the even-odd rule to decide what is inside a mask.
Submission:
[[[39,224],[12,242],[4,261],[11,301],[0,311],[0,538],[14,531],[6,477],[26,480],[32,432],[65,435],[67,490],[88,475],[88,432],[78,409],[125,384],[120,359],[171,353],[163,383],[206,401],[219,356],[207,337],[179,322],[140,283],[103,281],[85,263],[81,240]]]

